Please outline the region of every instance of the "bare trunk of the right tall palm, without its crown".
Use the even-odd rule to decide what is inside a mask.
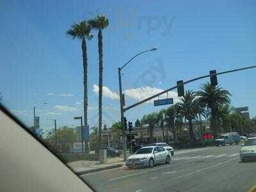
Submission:
[[[102,74],[103,74],[103,52],[102,52],[102,31],[98,33],[99,48],[99,149],[102,148],[101,132],[102,132]]]

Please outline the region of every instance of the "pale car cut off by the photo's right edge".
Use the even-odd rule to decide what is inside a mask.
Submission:
[[[256,159],[256,137],[248,138],[241,146],[240,158],[242,162],[248,159]]]

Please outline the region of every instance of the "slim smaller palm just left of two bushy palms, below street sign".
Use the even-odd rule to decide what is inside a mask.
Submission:
[[[175,120],[175,117],[176,117],[176,115],[177,115],[176,106],[173,105],[173,106],[170,106],[170,108],[167,108],[165,115],[166,115],[166,116],[165,116],[165,117],[166,117],[166,118],[165,118],[165,121],[166,121],[166,123],[167,123],[167,125],[168,125],[169,131],[170,131],[170,129],[171,129],[171,131],[173,132],[173,137],[174,137],[174,142],[175,142],[175,140],[176,140],[176,132],[175,132],[175,128],[174,128],[174,120]],[[167,138],[167,143],[168,143],[168,142],[169,142],[169,141],[168,141],[168,138]]]

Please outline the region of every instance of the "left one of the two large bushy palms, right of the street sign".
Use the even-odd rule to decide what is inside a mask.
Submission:
[[[179,108],[179,115],[185,117],[189,123],[189,138],[190,142],[194,141],[194,131],[192,120],[196,118],[198,101],[196,100],[196,94],[188,90],[186,91],[183,98],[180,99],[181,102],[177,104]]]

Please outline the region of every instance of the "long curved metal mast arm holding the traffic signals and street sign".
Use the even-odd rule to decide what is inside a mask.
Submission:
[[[160,93],[157,93],[156,95],[153,95],[151,97],[148,97],[147,99],[144,99],[144,100],[141,100],[140,102],[137,102],[135,104],[132,104],[131,106],[128,106],[127,108],[124,108],[124,112],[131,109],[131,108],[134,108],[140,104],[143,104],[143,102],[147,102],[148,100],[151,100],[151,99],[154,99],[155,97],[158,97],[160,95],[163,95],[164,93],[167,93],[167,92],[170,92],[172,90],[175,90],[176,88],[178,88],[179,86],[184,86],[184,84],[188,84],[188,83],[191,83],[193,81],[197,81],[199,79],[204,79],[206,77],[211,77],[211,76],[219,76],[221,74],[227,74],[227,73],[231,73],[231,72],[237,72],[239,70],[246,70],[246,69],[250,69],[250,68],[256,68],[256,65],[253,65],[251,67],[244,67],[244,68],[237,68],[237,69],[234,69],[234,70],[227,70],[227,71],[224,71],[224,72],[220,72],[220,73],[216,73],[216,74],[210,74],[210,75],[207,75],[207,76],[201,76],[201,77],[196,77],[194,79],[190,79],[189,81],[185,81],[184,83],[180,83],[179,85],[177,86],[173,86],[172,88],[169,88],[168,90],[164,90],[163,92],[160,92]]]

